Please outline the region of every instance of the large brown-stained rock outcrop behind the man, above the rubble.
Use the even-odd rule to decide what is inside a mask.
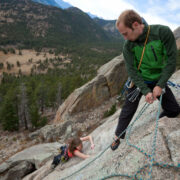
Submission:
[[[64,122],[75,113],[101,105],[117,95],[126,78],[125,64],[121,55],[103,65],[94,79],[70,94],[59,107],[54,122]]]

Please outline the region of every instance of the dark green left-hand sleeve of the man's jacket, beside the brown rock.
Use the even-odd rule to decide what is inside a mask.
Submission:
[[[151,90],[144,83],[144,80],[141,74],[138,72],[137,68],[134,67],[134,54],[128,47],[129,45],[126,42],[123,48],[123,56],[125,59],[126,70],[134,84],[140,88],[143,95],[146,95],[148,92],[151,92]]]

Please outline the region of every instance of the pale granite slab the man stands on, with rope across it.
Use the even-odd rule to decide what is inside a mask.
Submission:
[[[171,80],[180,84],[178,77],[180,77],[180,71],[176,72]],[[179,90],[172,88],[172,91],[180,103]],[[144,104],[145,100],[142,98],[134,120]],[[88,142],[83,144],[84,153],[91,155],[89,159],[80,160],[79,158],[72,158],[67,163],[57,166],[57,168],[53,172],[49,172],[48,175],[47,173],[43,173],[47,172],[50,168],[47,163],[36,171],[36,175],[33,173],[34,179],[60,180],[66,178],[69,180],[97,180],[113,174],[124,175],[114,177],[114,179],[132,179],[134,175],[139,179],[180,179],[180,167],[175,167],[180,164],[180,118],[164,117],[158,121],[156,146],[154,146],[157,109],[158,101],[150,105],[135,122],[130,132],[129,141],[127,141],[127,139],[122,140],[120,147],[116,151],[112,151],[109,145],[113,141],[114,131],[121,111],[119,109],[113,116],[108,118],[104,124],[92,132],[91,135],[95,143],[95,149],[93,151],[90,149]],[[132,120],[131,125],[134,120]],[[155,148],[155,164],[152,166],[151,158],[149,158],[148,155],[152,154],[153,148]],[[166,164],[169,164],[171,167],[162,166]],[[151,167],[152,173],[150,173],[150,176],[149,172],[151,171]],[[26,176],[25,179],[30,180],[31,177],[30,174]]]

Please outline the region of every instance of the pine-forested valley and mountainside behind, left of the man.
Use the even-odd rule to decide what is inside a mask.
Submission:
[[[29,75],[22,73],[23,62],[4,59],[22,56],[24,49],[35,50],[37,58],[44,54],[36,62],[27,59]],[[56,112],[74,89],[121,53],[122,40],[77,8],[62,10],[30,0],[2,0],[0,51],[4,54],[0,53],[0,123],[4,130],[33,130],[46,124],[47,110]],[[68,63],[64,63],[66,59]],[[15,68],[18,73],[12,73]]]

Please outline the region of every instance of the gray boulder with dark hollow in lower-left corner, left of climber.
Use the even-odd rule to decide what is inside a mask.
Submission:
[[[60,146],[59,143],[39,144],[15,154],[0,165],[0,179],[8,180],[13,174],[16,174],[17,179],[22,179],[48,160],[52,161]]]

